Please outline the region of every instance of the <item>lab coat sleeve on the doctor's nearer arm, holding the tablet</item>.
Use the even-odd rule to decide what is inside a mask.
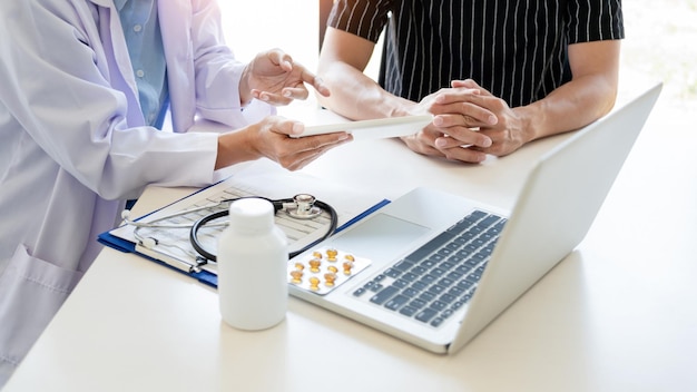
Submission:
[[[46,154],[104,198],[134,197],[151,183],[209,184],[217,135],[134,125],[135,90],[108,55],[122,41],[111,36],[121,33],[118,16],[88,3],[2,2],[4,14],[22,18],[3,21],[13,39],[0,42],[0,100]]]

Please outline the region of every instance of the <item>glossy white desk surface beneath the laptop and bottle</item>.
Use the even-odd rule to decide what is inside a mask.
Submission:
[[[356,141],[304,171],[510,207],[563,137],[480,166]],[[6,391],[696,391],[696,144],[694,124],[655,111],[577,251],[453,356],[296,298],[278,326],[239,332],[210,287],[105,249]],[[153,188],[138,207],[183,192]]]

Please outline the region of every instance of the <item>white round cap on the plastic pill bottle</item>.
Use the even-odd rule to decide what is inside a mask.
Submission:
[[[274,224],[274,205],[259,197],[245,197],[229,206],[230,227],[239,233],[268,229]]]

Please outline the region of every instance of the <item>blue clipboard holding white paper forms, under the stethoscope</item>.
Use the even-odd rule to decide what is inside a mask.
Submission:
[[[320,180],[316,177],[301,173],[287,171],[279,168],[279,166],[274,163],[259,160],[214,185],[198,189],[188,196],[153,210],[134,220],[148,222],[148,219],[156,219],[160,216],[186,210],[192,208],[192,206],[200,206],[203,204],[209,204],[213,206],[216,204],[216,198],[220,199],[256,195],[274,199],[292,197],[297,193],[311,193],[315,195],[317,199],[332,205],[336,209],[338,215],[338,225],[335,233],[341,232],[390,203],[390,200],[370,193],[357,192],[355,189],[326,180]],[[214,206],[210,212],[214,212],[215,208],[216,207]],[[217,208],[227,208],[227,206],[223,205]],[[202,215],[204,214],[206,214],[206,212],[202,212],[200,214],[190,217],[190,219],[203,217]],[[187,219],[189,219],[189,217],[187,217]],[[277,214],[277,224],[279,224],[279,219],[287,218]],[[325,217],[325,219],[328,224],[328,217]],[[295,241],[291,241],[292,238],[288,238],[291,251],[293,249],[293,246],[297,246],[300,248],[308,245],[318,245],[318,239],[321,239],[320,237],[326,233],[324,228],[325,226],[322,223],[322,219],[316,223],[317,227],[315,227],[316,233],[314,235],[307,235],[302,239],[296,238]],[[287,227],[284,227],[282,224],[283,222],[279,224],[279,227],[286,233],[286,235],[288,235],[286,232]],[[183,247],[190,247],[190,243],[188,243],[188,229],[176,229],[180,231],[179,233],[173,233],[175,231],[168,229],[153,229],[158,233],[156,235],[164,236],[167,241],[171,241],[169,244],[165,243],[165,245],[158,245],[155,248],[146,248],[139,245],[132,234],[134,229],[134,226],[122,225],[109,232],[101,233],[97,241],[120,252],[135,253],[146,259],[196,278],[200,283],[217,287],[217,267],[214,263],[208,261],[198,261],[195,257],[192,257],[194,254],[187,254],[179,252],[176,248],[170,248],[171,244],[175,243],[177,245],[181,245]],[[291,231],[294,228],[291,228]],[[312,227],[304,227],[303,231],[305,229],[311,231]],[[146,233],[146,235],[148,235],[148,233]],[[209,235],[210,238],[208,243],[210,245],[212,241],[215,239],[215,233]],[[298,236],[295,232],[293,232],[292,235],[294,238]],[[215,244],[212,246],[215,246]],[[193,251],[193,248],[190,251]]]

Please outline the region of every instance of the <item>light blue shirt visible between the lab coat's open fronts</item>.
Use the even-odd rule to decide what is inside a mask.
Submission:
[[[167,112],[167,65],[156,0],[114,0],[119,11],[146,124],[161,128]]]

